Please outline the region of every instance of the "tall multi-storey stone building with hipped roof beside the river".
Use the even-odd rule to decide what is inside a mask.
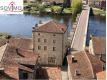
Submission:
[[[55,21],[40,21],[32,31],[34,51],[40,56],[39,64],[61,66],[67,49],[67,27]]]

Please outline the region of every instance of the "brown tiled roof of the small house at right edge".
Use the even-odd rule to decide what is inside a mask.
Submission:
[[[106,53],[106,38],[92,37],[93,50],[95,54]]]

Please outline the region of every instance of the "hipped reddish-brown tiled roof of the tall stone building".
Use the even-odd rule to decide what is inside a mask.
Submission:
[[[64,24],[57,23],[55,21],[48,21],[33,27],[33,32],[64,33],[66,30],[67,27]]]

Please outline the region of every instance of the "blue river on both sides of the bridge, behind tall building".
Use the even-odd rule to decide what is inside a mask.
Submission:
[[[55,20],[69,26],[72,30],[72,16],[34,16],[34,15],[0,15],[0,32],[7,32],[12,35],[32,36],[32,27],[39,20]],[[88,35],[106,36],[106,19],[102,17],[90,16]]]

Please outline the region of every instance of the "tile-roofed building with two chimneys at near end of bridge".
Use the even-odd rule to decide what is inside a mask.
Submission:
[[[103,63],[85,51],[68,55],[67,61],[69,80],[96,79],[96,73],[103,71]]]

